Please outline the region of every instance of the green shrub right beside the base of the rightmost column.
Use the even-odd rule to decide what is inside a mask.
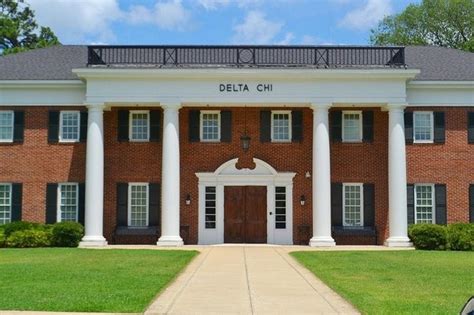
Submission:
[[[414,224],[408,235],[416,249],[446,249],[446,227],[436,224]]]

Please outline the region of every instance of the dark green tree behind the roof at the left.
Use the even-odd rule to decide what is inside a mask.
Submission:
[[[39,27],[23,0],[0,0],[0,54],[59,45],[49,27]]]

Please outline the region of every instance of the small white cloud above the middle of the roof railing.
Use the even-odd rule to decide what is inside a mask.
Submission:
[[[241,24],[233,27],[236,44],[270,44],[283,27],[283,23],[268,20],[260,11],[250,11]]]

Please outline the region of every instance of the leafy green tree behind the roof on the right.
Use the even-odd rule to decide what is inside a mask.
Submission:
[[[474,52],[474,1],[423,0],[371,30],[375,45],[435,45]]]

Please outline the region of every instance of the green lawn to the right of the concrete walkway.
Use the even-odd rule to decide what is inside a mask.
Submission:
[[[459,314],[474,294],[474,253],[294,252],[365,314]]]

